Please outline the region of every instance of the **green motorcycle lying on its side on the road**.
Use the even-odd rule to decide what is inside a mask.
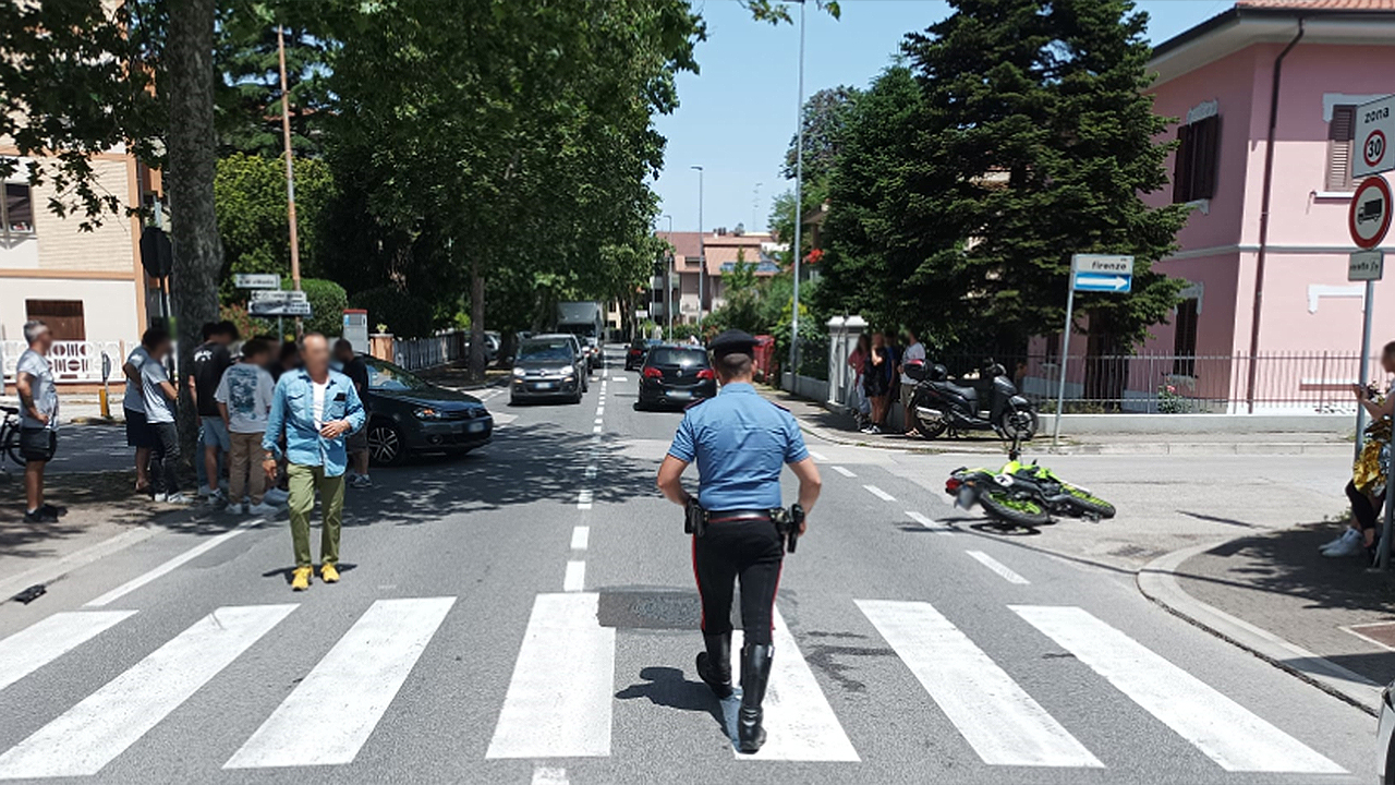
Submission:
[[[1024,464],[1017,440],[1003,468],[954,469],[944,480],[944,493],[954,497],[956,507],[968,510],[976,503],[1006,528],[1036,528],[1057,515],[1091,521],[1115,517],[1109,501],[1063,480],[1036,461]]]

